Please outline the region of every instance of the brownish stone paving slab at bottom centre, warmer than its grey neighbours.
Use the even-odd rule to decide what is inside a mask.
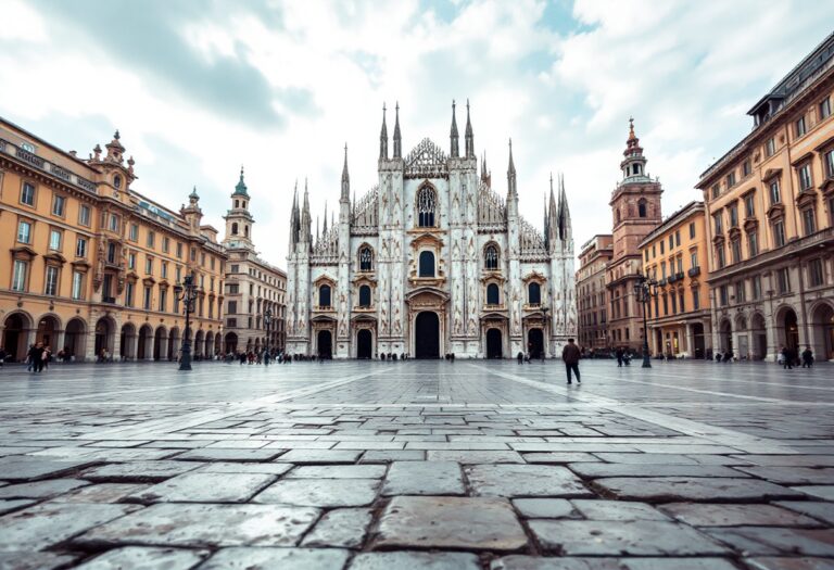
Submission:
[[[394,497],[379,521],[376,548],[517,550],[527,535],[506,498]]]

